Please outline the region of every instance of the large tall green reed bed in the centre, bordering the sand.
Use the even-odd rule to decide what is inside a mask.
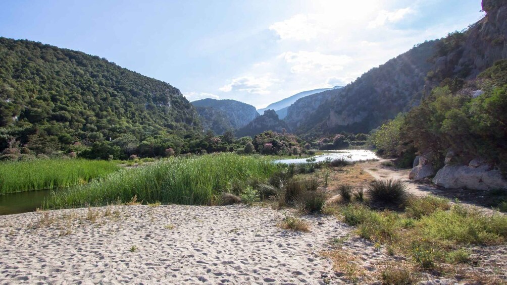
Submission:
[[[278,166],[261,156],[231,153],[173,157],[137,169],[125,169],[105,178],[55,192],[45,208],[62,209],[160,201],[183,205],[211,205],[225,192],[248,188],[252,181],[265,181]]]

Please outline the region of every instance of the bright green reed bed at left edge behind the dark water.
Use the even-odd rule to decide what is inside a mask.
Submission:
[[[118,171],[112,161],[36,159],[0,163],[0,194],[64,188]]]

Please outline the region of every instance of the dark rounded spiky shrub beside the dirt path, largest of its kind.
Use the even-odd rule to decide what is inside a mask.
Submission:
[[[396,206],[405,204],[408,194],[407,187],[401,180],[380,180],[370,182],[368,195],[375,206]]]

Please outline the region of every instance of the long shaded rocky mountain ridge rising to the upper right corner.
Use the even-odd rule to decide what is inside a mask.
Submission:
[[[474,78],[507,58],[507,3],[484,0],[483,10],[485,18],[464,32],[420,44],[343,89],[299,99],[287,110],[289,128],[304,137],[367,133],[418,105],[443,80]]]

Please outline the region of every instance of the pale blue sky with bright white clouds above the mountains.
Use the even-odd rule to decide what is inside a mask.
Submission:
[[[483,16],[481,0],[1,0],[0,36],[104,57],[190,101],[263,108]]]

